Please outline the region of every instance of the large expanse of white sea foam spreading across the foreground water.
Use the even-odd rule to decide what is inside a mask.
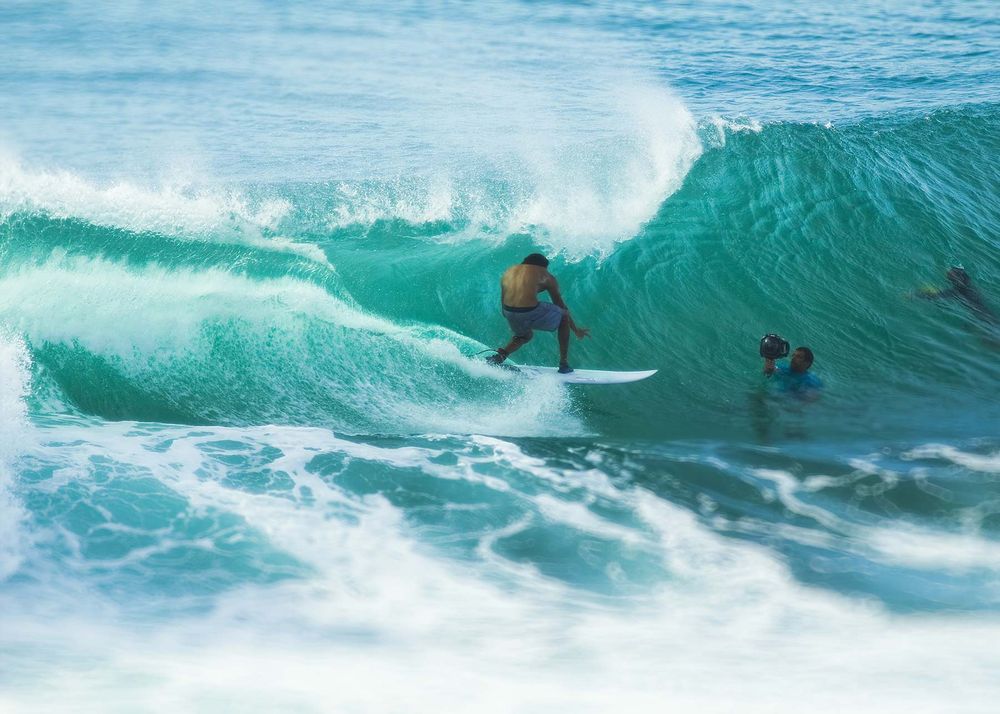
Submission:
[[[296,496],[233,488],[225,460],[206,458],[213,443],[241,445],[234,453],[280,449],[270,465],[291,475]],[[44,597],[8,600],[0,651],[41,658],[31,666],[47,685],[8,681],[0,703],[12,712],[39,703],[55,712],[725,712],[734,701],[746,712],[989,710],[1000,665],[995,618],[900,617],[803,587],[767,549],[722,538],[641,488],[617,490],[615,503],[634,514],[634,537],[661,558],[668,578],[611,604],[495,552],[478,562],[435,553],[385,497],[352,494],[336,474],[307,468],[334,453],[435,478],[450,454],[461,478],[497,456],[508,465],[517,458],[517,479],[537,471],[542,484],[580,489],[558,497],[526,489],[517,496],[529,510],[602,538],[625,527],[588,508],[589,497],[610,494],[574,483],[573,469],[516,457],[520,450],[502,440],[492,441],[494,453],[490,443],[453,451],[373,447],[319,429],[53,429],[39,455],[78,464],[78,478],[95,456],[130,464],[195,514],[223,511],[266,534],[311,575],[223,592],[208,614],[138,628],[92,594],[60,600],[58,582]],[[523,527],[498,523],[497,532]],[[941,688],[942,679],[951,686]]]

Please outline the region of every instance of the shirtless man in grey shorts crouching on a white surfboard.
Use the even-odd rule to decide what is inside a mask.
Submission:
[[[506,347],[488,358],[492,364],[503,364],[513,352],[531,341],[534,330],[559,333],[559,372],[573,371],[569,366],[569,333],[582,340],[590,334],[586,327],[577,327],[559,292],[559,283],[548,271],[549,261],[541,253],[532,253],[518,265],[512,265],[500,278],[500,303],[514,333]],[[538,299],[538,293],[548,292],[552,302]]]

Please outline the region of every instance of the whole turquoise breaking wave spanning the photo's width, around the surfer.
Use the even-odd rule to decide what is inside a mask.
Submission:
[[[477,220],[451,205],[415,218],[399,182],[369,182],[364,193],[329,183],[232,189],[226,200],[245,210],[219,210],[218,227],[199,232],[183,229],[182,207],[201,216],[213,197],[179,200],[167,188],[140,203],[121,186],[35,180],[18,167],[10,185],[62,181],[103,208],[74,216],[46,205],[48,194],[0,196],[9,206],[0,316],[31,345],[55,398],[107,419],[749,437],[760,409],[748,398],[756,340],[776,330],[808,342],[837,385],[810,416],[824,430],[858,438],[877,420],[899,438],[928,424],[962,436],[964,422],[946,418],[954,409],[970,422],[997,417],[978,387],[1000,376],[995,325],[961,303],[909,294],[943,284],[954,261],[987,292],[1000,280],[990,238],[997,169],[979,159],[1000,148],[998,117],[987,105],[846,126],[705,122],[694,137],[704,154],[677,174],[683,187],[636,235],[582,258],[573,252],[582,244],[558,244],[552,226],[523,222],[511,233],[510,213]],[[503,205],[509,187],[498,181],[478,200]],[[378,213],[367,213],[372,197]],[[252,222],[256,207],[277,202],[276,222]],[[176,233],[151,228],[161,210],[181,216]],[[122,225],[108,225],[114,216]],[[535,245],[557,251],[552,270],[601,336],[576,346],[577,360],[683,368],[636,390],[624,414],[621,394],[588,394],[593,413],[580,419],[568,395],[539,406],[534,387],[470,359],[505,339],[496,279]],[[551,362],[554,340],[519,356]],[[706,378],[692,378],[700,369]],[[898,410],[886,414],[887,400]]]

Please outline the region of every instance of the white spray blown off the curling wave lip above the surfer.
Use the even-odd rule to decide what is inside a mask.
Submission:
[[[572,135],[522,132],[474,169],[341,183],[331,225],[376,221],[438,223],[466,239],[532,232],[556,252],[580,259],[633,237],[676,191],[701,153],[694,118],[656,87],[608,93],[614,130],[583,141]]]

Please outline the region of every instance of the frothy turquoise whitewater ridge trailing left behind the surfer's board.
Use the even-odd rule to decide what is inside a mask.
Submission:
[[[104,417],[351,433],[580,429],[556,382],[517,380],[469,359],[483,348],[473,340],[292,277],[63,256],[0,280],[0,316],[70,402]]]

